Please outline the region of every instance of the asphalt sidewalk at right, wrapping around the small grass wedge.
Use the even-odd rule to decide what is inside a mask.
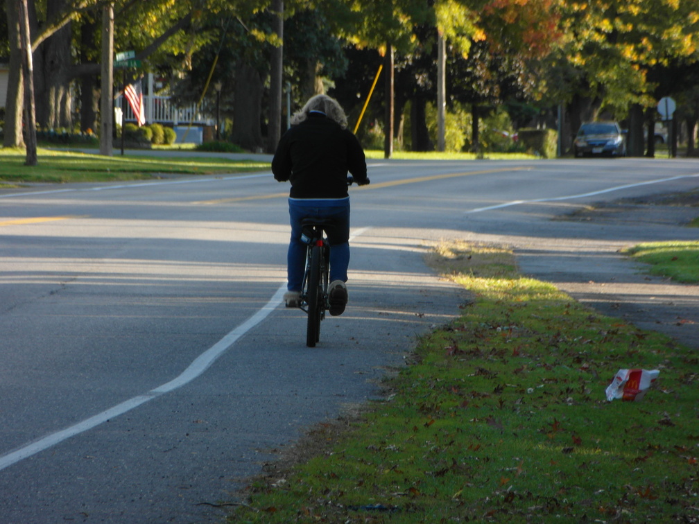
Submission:
[[[663,241],[697,240],[699,229],[685,224],[698,216],[699,208],[687,205],[621,201],[558,219],[619,231],[619,238]],[[521,246],[515,253],[522,272],[600,313],[699,349],[699,285],[648,275],[647,265],[618,252],[622,245],[628,242],[547,239],[545,247]]]

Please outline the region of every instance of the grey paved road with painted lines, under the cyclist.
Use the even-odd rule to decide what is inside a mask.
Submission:
[[[2,191],[0,522],[217,521],[208,503],[376,395],[416,335],[458,313],[463,294],[422,262],[433,242],[512,245],[525,272],[594,302],[633,283],[616,250],[668,228],[552,218],[693,189],[699,166],[389,161],[370,176],[352,193],[350,305],[315,349],[280,307],[285,187],[269,173]]]

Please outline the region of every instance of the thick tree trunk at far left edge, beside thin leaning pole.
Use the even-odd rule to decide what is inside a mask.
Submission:
[[[24,147],[22,137],[22,107],[24,106],[24,83],[22,82],[22,43],[17,1],[6,0],[7,28],[10,38],[10,71],[5,103],[5,136],[3,147]]]

